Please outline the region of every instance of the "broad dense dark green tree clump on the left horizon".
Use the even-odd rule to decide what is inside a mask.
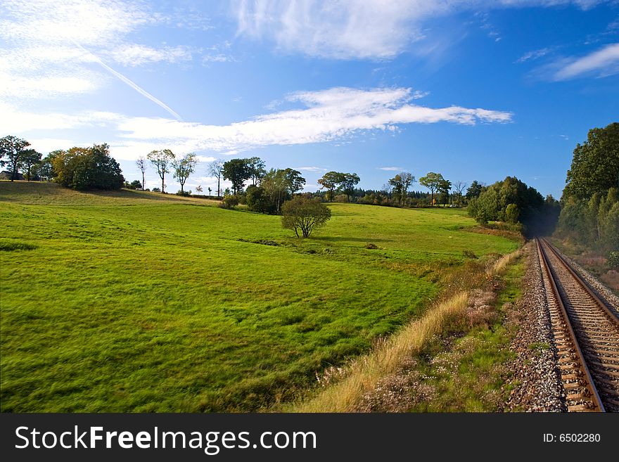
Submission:
[[[120,165],[110,157],[107,144],[55,151],[52,162],[56,181],[67,188],[87,191],[113,190],[125,186]]]

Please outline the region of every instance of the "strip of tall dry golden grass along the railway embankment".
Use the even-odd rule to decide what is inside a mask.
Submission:
[[[521,250],[499,258],[487,269],[488,277],[504,271]],[[473,297],[475,298],[475,297]],[[455,295],[430,308],[421,319],[411,321],[401,331],[376,345],[364,357],[352,361],[345,368],[331,371],[324,389],[307,401],[293,404],[291,412],[352,412],[357,409],[364,395],[374,390],[378,383],[402,368],[414,354],[419,354],[434,335],[439,335],[457,319],[468,319],[471,303],[469,292],[461,290]],[[475,304],[475,303],[474,303]],[[473,307],[475,308],[475,307]],[[470,320],[469,320],[470,321]],[[330,382],[334,382],[331,384]]]

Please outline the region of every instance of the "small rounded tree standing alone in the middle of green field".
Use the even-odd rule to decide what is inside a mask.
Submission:
[[[326,205],[302,195],[296,195],[283,203],[281,213],[281,226],[295,231],[298,238],[309,237],[314,229],[323,226],[331,218],[331,210]]]

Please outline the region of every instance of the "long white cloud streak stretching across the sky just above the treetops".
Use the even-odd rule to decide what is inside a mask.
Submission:
[[[300,91],[288,95],[291,103],[302,106],[278,113],[259,115],[228,125],[208,125],[155,117],[126,117],[110,113],[84,113],[56,119],[56,114],[23,113],[0,107],[0,122],[8,131],[84,127],[104,124],[129,148],[177,146],[183,151],[234,152],[263,146],[291,146],[350,139],[364,131],[388,130],[397,124],[451,122],[510,122],[511,113],[482,108],[428,108],[415,105],[414,92],[407,88]],[[6,125],[5,125],[6,124]],[[140,146],[140,143],[143,146]],[[148,146],[147,146],[148,145]]]

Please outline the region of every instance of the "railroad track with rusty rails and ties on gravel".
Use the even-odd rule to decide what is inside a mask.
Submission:
[[[619,307],[594,293],[537,239],[561,381],[570,412],[619,412]]]

